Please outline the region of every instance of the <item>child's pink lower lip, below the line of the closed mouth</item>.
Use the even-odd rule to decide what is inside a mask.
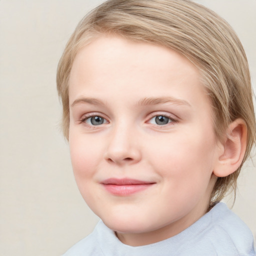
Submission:
[[[131,184],[131,185],[115,185],[115,184],[103,184],[105,189],[114,195],[130,195],[139,191],[145,190],[152,186],[153,183],[149,184]]]

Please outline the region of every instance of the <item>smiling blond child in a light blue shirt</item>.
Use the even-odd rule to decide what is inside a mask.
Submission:
[[[101,221],[64,255],[254,255],[219,202],[255,143],[244,50],[189,0],[108,0],[57,70],[78,188]]]

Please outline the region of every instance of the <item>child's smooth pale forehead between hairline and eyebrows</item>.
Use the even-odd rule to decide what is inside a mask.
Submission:
[[[195,90],[196,88],[196,90]],[[70,72],[70,102],[88,95],[112,99],[166,96],[193,100],[206,96],[199,70],[174,50],[118,36],[100,36],[78,51]],[[179,92],[182,93],[180,94]],[[124,95],[121,95],[121,94]]]

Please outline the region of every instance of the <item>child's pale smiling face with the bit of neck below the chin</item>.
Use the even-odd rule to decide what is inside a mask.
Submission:
[[[120,240],[156,242],[205,213],[219,147],[199,71],[186,58],[99,37],[75,57],[69,100],[78,188]]]

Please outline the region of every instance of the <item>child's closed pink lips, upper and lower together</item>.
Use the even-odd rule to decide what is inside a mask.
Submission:
[[[108,178],[103,180],[101,184],[111,194],[125,196],[144,190],[155,184],[155,182],[148,182],[129,178]]]

